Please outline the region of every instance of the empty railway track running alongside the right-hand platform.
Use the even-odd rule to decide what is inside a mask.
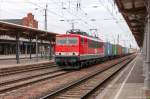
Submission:
[[[86,97],[104,83],[107,79],[118,72],[122,67],[127,65],[135,56],[126,58],[118,64],[111,66],[105,70],[94,71],[79,80],[66,84],[50,94],[47,94],[40,99],[86,99]]]

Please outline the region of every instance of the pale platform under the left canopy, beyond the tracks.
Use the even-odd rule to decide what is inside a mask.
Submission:
[[[40,55],[39,55],[40,56]],[[29,55],[20,55],[20,64],[16,63],[15,55],[5,55],[2,57],[0,55],[0,69],[2,68],[9,68],[9,67],[16,67],[16,66],[25,66],[25,65],[32,65],[32,64],[39,64],[39,63],[46,63],[46,62],[54,62],[53,59],[49,60],[47,58],[35,58],[32,55],[32,59],[29,59]]]

